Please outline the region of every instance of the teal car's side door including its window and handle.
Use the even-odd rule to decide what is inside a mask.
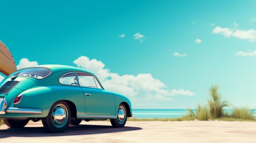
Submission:
[[[114,95],[104,90],[93,75],[82,72],[76,72],[76,74],[85,96],[86,114],[115,115]]]

